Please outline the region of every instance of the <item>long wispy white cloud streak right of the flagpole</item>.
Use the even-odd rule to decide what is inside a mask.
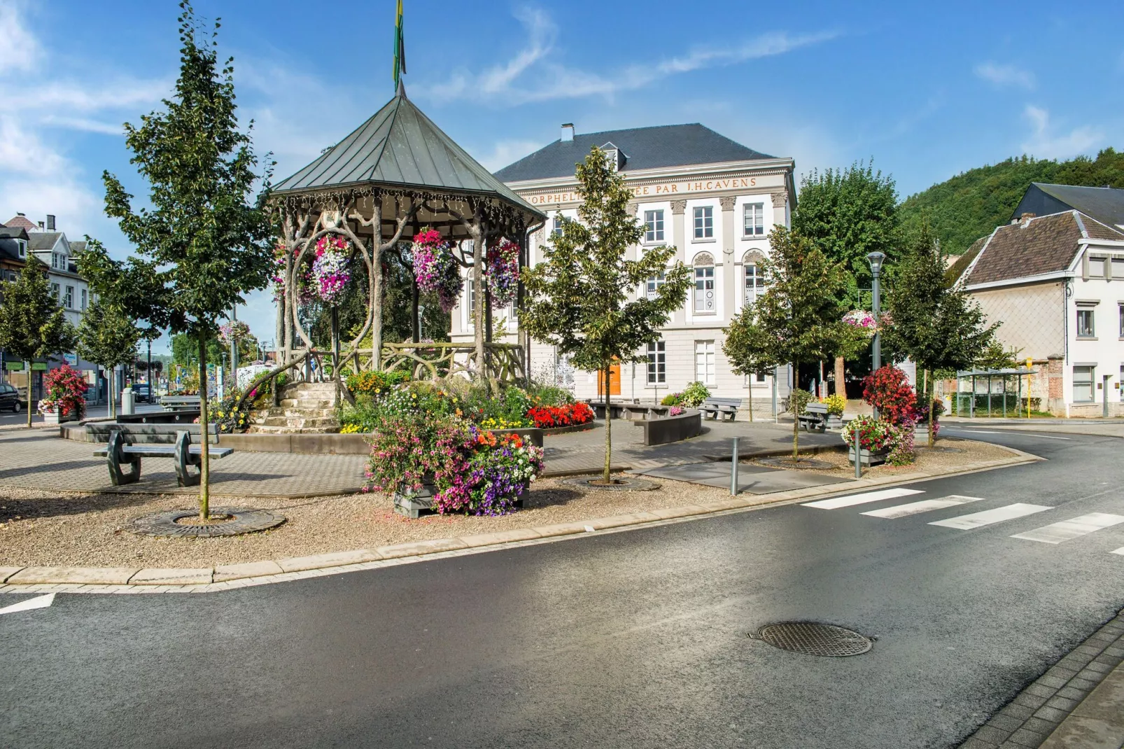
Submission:
[[[469,97],[479,100],[483,96],[510,103],[613,97],[671,75],[781,55],[840,35],[837,31],[770,31],[735,45],[698,47],[686,55],[631,63],[611,73],[600,73],[551,62],[552,53],[556,52],[559,29],[545,10],[524,8],[516,17],[526,29],[527,42],[510,60],[478,73],[457,71],[443,82],[414,84],[411,93],[445,101]]]

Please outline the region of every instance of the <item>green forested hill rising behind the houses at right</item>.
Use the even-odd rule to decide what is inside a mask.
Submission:
[[[1124,188],[1124,152],[1105,148],[1096,159],[1078,156],[1062,162],[1024,155],[970,169],[909,196],[898,216],[907,233],[916,231],[927,216],[941,246],[959,255],[1010,219],[1031,182]]]

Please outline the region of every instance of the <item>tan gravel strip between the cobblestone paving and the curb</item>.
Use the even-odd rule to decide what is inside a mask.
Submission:
[[[1012,454],[979,442],[948,440],[945,444],[964,451],[921,451],[914,466],[877,467],[864,475],[873,478],[917,469],[952,471],[968,462]],[[816,459],[840,466],[831,473],[853,475],[845,453],[822,453]],[[563,486],[558,479],[544,479],[532,486],[528,507],[511,515],[430,516],[416,521],[396,515],[391,499],[379,495],[296,500],[238,497],[228,502],[212,497],[212,507],[237,504],[279,509],[289,520],[272,531],[244,536],[154,539],[123,529],[139,515],[191,506],[190,502],[184,502],[185,497],[60,495],[0,488],[0,566],[211,567],[607,517],[727,496],[726,489],[668,480],[661,480],[661,487],[652,491],[597,491]],[[764,504],[770,498],[764,495],[760,500]]]

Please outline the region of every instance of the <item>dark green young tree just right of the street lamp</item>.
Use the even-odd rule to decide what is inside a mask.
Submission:
[[[944,253],[928,224],[910,244],[889,289],[891,325],[887,344],[924,370],[928,443],[933,444],[933,377],[939,369],[963,369],[987,350],[998,325],[988,326],[979,305],[944,276]],[[1001,346],[1000,346],[1001,350]]]

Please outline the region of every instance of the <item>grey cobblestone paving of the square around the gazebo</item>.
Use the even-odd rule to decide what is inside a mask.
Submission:
[[[783,424],[709,423],[704,434],[686,442],[646,448],[642,430],[626,421],[613,423],[613,463],[628,468],[659,468],[697,463],[727,455],[731,437],[741,437],[744,455],[791,446],[791,426]],[[596,471],[605,464],[605,432],[600,424],[586,432],[546,437],[546,472]],[[0,487],[65,491],[129,491],[196,494],[198,488],[175,484],[172,460],[145,458],[140,480],[121,487],[109,484],[98,446],[57,436],[57,428],[0,430]],[[837,444],[835,434],[800,433],[806,445]],[[281,452],[235,451],[211,461],[211,487],[225,496],[283,496],[352,494],[363,485],[363,455],[305,455]]]

